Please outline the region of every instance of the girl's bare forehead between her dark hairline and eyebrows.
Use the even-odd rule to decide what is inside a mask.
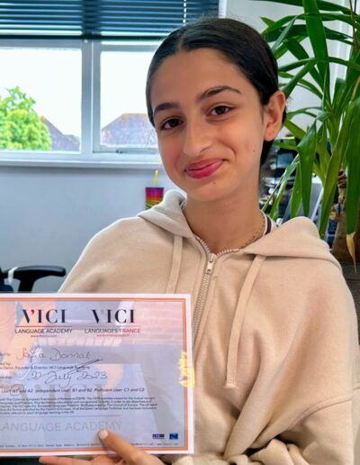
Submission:
[[[251,87],[256,92],[240,69],[219,50],[180,51],[166,58],[154,74],[151,105],[177,101],[183,96],[191,98],[207,88],[225,85],[240,91]]]

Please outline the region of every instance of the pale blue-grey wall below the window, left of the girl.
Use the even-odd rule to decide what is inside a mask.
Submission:
[[[95,232],[144,209],[144,187],[153,177],[153,169],[0,165],[0,267],[71,269]],[[162,170],[158,186],[174,187]],[[60,283],[60,278],[43,278],[34,290],[52,292]]]

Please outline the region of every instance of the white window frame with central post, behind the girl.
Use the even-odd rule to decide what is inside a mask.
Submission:
[[[81,51],[81,150],[79,152],[56,150],[1,150],[0,166],[45,166],[88,168],[160,168],[157,150],[151,148],[119,147],[110,149],[100,143],[100,56],[102,51],[156,50],[157,41],[46,41],[6,40],[0,47],[77,49]],[[144,89],[145,92],[145,89]]]

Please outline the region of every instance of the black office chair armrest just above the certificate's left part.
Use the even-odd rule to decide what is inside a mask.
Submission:
[[[0,268],[0,292],[31,292],[32,287],[40,278],[47,276],[65,276],[67,270],[63,267],[51,266],[31,266],[31,267],[15,267],[13,269]],[[13,280],[19,280],[17,289],[13,287]],[[5,283],[7,281],[7,283]]]

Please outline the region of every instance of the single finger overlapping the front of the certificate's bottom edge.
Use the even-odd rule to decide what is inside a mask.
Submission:
[[[115,433],[102,430],[99,433],[99,438],[106,447],[115,451],[123,460],[129,463],[129,465],[164,465],[163,462],[154,455],[141,451],[139,447],[135,447],[129,442],[124,441]]]

